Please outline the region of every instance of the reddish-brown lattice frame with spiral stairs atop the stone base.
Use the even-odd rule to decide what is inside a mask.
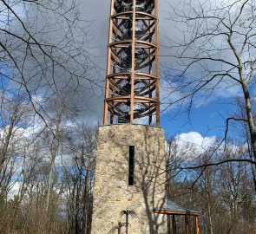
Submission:
[[[111,0],[104,125],[160,125],[158,0]]]

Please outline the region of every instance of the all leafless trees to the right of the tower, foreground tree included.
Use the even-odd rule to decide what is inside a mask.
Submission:
[[[168,196],[200,211],[202,233],[255,233],[255,1],[170,3],[179,36],[167,38],[169,107],[188,119],[198,101],[221,92],[233,111],[223,114],[219,137],[200,151],[169,140]],[[171,78],[170,78],[171,77]],[[210,131],[210,129],[209,129]],[[194,157],[195,156],[195,157]]]

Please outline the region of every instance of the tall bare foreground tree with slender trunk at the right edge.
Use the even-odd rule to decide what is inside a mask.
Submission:
[[[226,119],[224,140],[230,123],[244,122],[249,131],[253,160],[256,159],[256,130],[252,88],[255,79],[256,3],[253,0],[179,1],[172,6],[171,20],[179,29],[169,39],[173,66],[168,69],[167,87],[190,112],[194,101],[216,92],[236,88],[245,103],[245,118]]]

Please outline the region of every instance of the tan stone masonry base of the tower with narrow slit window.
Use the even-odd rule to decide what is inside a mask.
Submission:
[[[128,185],[129,146],[135,146],[135,185]],[[165,205],[165,137],[163,129],[142,125],[99,128],[95,167],[92,234],[126,233],[120,212],[129,217],[129,234],[166,234],[165,216],[153,208]]]

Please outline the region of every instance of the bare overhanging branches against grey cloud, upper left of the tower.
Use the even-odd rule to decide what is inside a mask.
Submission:
[[[91,22],[82,21],[76,2],[0,1],[0,77],[8,92],[26,94],[43,120],[52,95],[98,86],[87,49]]]

